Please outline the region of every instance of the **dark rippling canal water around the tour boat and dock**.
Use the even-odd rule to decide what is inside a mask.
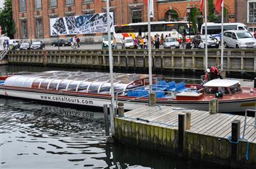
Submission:
[[[1,75],[47,70],[61,69],[0,67]],[[101,112],[8,98],[0,98],[0,168],[224,169],[214,164],[106,143]]]

